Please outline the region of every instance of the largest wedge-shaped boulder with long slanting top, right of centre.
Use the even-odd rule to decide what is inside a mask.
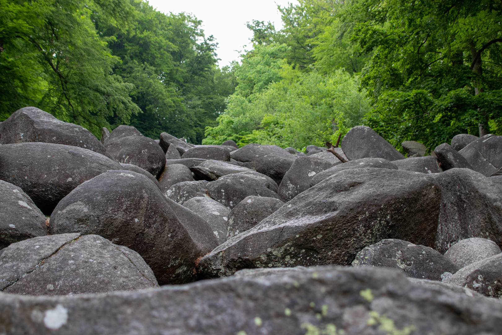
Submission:
[[[440,197],[423,173],[340,171],[218,246],[200,260],[199,271],[213,278],[243,268],[348,265],[383,239],[433,247]]]

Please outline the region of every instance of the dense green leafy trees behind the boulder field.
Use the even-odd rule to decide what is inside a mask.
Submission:
[[[0,4],[0,121],[31,105],[98,138],[126,124],[298,150],[356,125],[398,150],[502,135],[500,1],[300,0],[281,30],[249,22],[225,67],[201,21],[145,1]]]

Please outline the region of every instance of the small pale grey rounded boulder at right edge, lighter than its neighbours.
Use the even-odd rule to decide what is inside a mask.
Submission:
[[[455,243],[444,256],[460,268],[463,268],[485,258],[498,255],[501,252],[493,241],[483,238],[471,238]]]

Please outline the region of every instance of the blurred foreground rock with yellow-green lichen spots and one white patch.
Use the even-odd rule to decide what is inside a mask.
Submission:
[[[502,333],[500,301],[427,282],[380,268],[319,267],[137,292],[0,294],[0,333],[376,335],[386,333],[383,323],[412,334]]]

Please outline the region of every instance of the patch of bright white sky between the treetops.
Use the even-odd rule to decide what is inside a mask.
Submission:
[[[150,5],[162,13],[175,14],[185,12],[193,14],[202,20],[204,35],[213,35],[218,42],[216,53],[220,66],[229,65],[232,60],[239,60],[239,54],[250,50],[252,43],[249,41],[253,33],[247,29],[246,22],[253,20],[271,21],[276,30],[282,28],[281,15],[277,5],[285,7],[289,3],[298,4],[296,0],[254,0],[254,1],[229,1],[229,0],[150,0]],[[247,45],[247,47],[243,47]],[[237,50],[237,51],[235,51]]]

